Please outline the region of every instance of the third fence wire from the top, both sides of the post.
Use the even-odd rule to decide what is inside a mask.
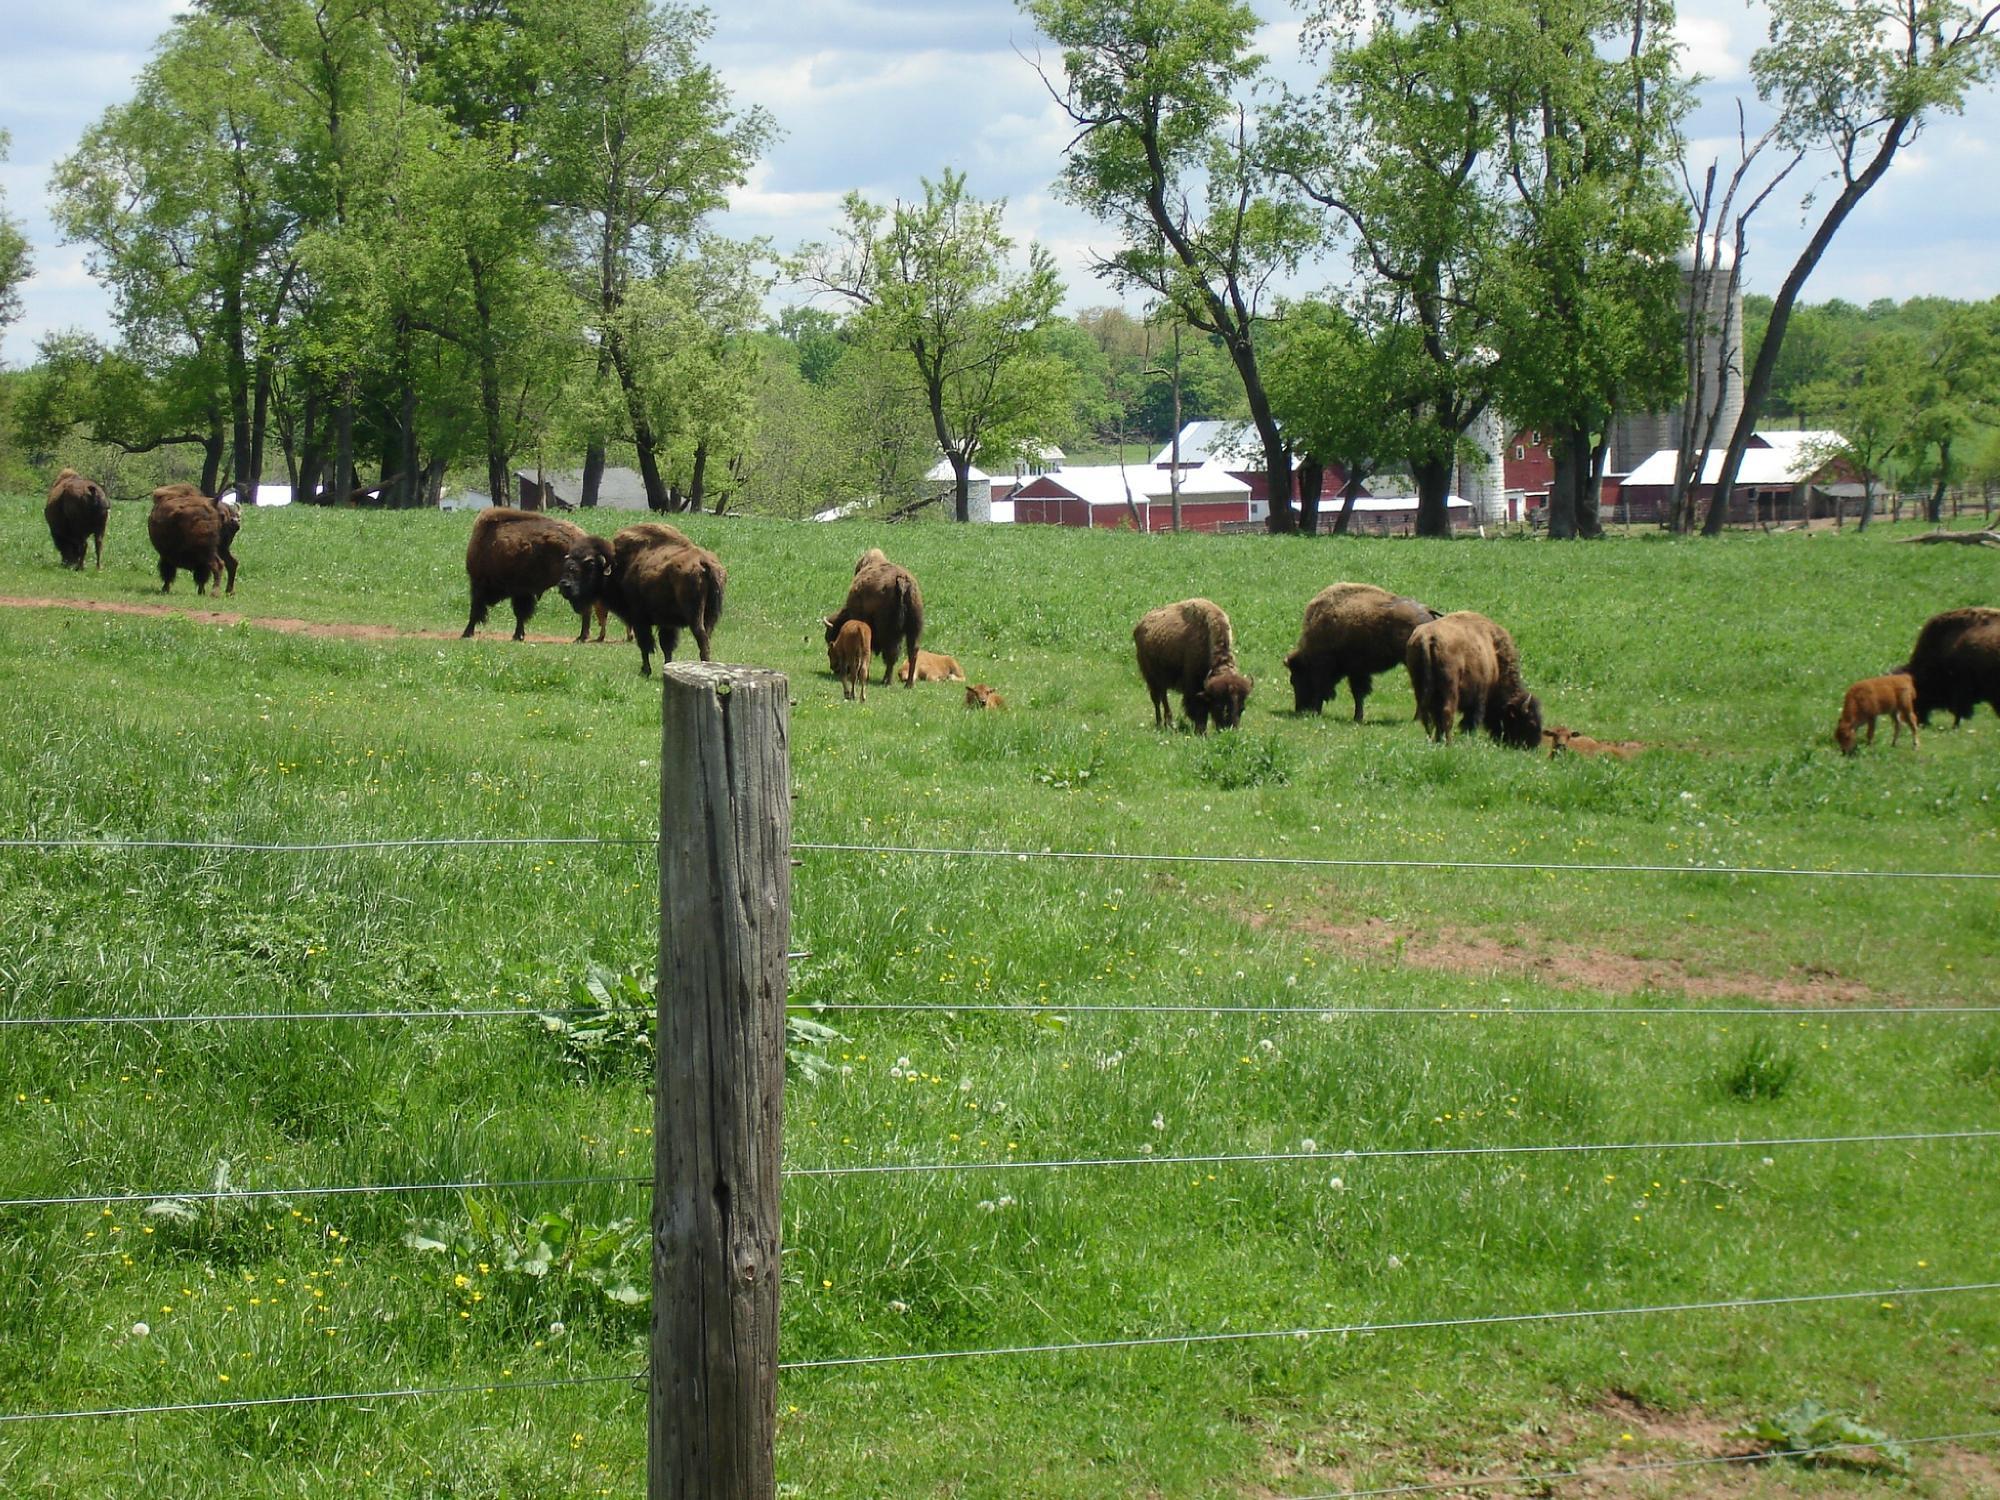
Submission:
[[[1258,1166],[1286,1162],[1424,1160],[1454,1156],[1594,1156],[1630,1152],[1678,1150],[1776,1150],[1780,1146],[1878,1146],[1920,1144],[1940,1140],[1994,1140],[2000,1130],[1906,1130],[1872,1136],[1758,1136],[1734,1140],[1618,1140],[1618,1142],[1550,1142],[1542,1146],[1374,1146],[1344,1150],[1296,1152],[1210,1152],[1200,1156],[1072,1156],[994,1162],[856,1162],[852,1166],[788,1166],[782,1178],[862,1178],[862,1176],[962,1176],[972,1172],[1070,1172],[1124,1166]],[[630,1188],[650,1184],[650,1174],[628,1176],[568,1176],[568,1178],[498,1178],[462,1182],[382,1182],[338,1184],[326,1188],[198,1188],[188,1192],[82,1192],[48,1198],[0,1198],[6,1208],[106,1208],[120,1204],[158,1202],[252,1202],[262,1198],[392,1198],[424,1192],[528,1190],[528,1188]]]

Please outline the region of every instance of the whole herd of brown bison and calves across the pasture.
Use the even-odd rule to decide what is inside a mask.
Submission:
[[[44,506],[48,536],[66,568],[82,570],[86,556],[104,566],[104,532],[110,502],[98,484],[62,470]],[[152,492],[146,536],[160,558],[160,592],[186,570],[194,590],[210,584],[236,592],[232,542],[242,512],[232,498],[210,498],[192,484],[166,484]],[[604,622],[616,614],[638,640],[640,676],[652,674],[654,640],[666,660],[674,660],[680,632],[694,636],[702,660],[712,660],[712,638],[722,618],[728,572],[714,552],[660,522],[626,526],[602,538],[560,516],[492,506],[480,512],[466,546],[466,582],[472,612],[464,636],[484,624],[488,610],[506,600],[514,610],[514,640],[522,640],[542,594],[558,588],[578,614],[578,642],[590,640],[596,616],[598,640]],[[868,662],[882,658],[882,682],[964,682],[966,674],[950,656],[920,648],[924,636],[924,594],[908,568],[870,548],[854,564],[846,602],[824,616],[828,666],[848,698],[868,696]],[[1242,722],[1252,680],[1236,658],[1230,616],[1206,598],[1184,598],[1148,610],[1132,628],[1140,678],[1152,698],[1154,726],[1172,728],[1168,694],[1180,694],[1180,712],[1198,734],[1208,724],[1228,730]],[[1376,676],[1402,666],[1416,696],[1416,722],[1432,740],[1452,732],[1486,732],[1498,744],[1550,754],[1608,754],[1630,758],[1642,746],[1592,740],[1560,724],[1542,724],[1542,704],[1520,676],[1514,638],[1484,614],[1458,610],[1438,614],[1428,604],[1392,594],[1374,584],[1332,584],[1306,604],[1298,644],[1284,658],[1292,678],[1292,708],[1318,714],[1334,700],[1342,682],[1362,722],[1368,690]],[[984,682],[966,686],[968,708],[1000,708],[1002,698]],[[1980,704],[2000,712],[2000,610],[1946,610],[1924,622],[1910,660],[1890,674],[1864,678],[1848,688],[1834,742],[1854,754],[1858,738],[1874,742],[1880,716],[1890,716],[1894,734],[1938,710],[1954,722],[1966,720]]]

